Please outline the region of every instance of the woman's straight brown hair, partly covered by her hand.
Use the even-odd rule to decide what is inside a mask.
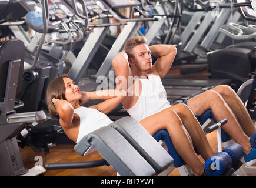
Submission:
[[[54,106],[54,103],[52,103],[52,99],[63,99],[66,100],[65,98],[65,92],[66,92],[66,87],[63,78],[69,78],[67,75],[62,75],[58,76],[55,79],[51,80],[51,82],[48,85],[47,88],[47,106],[49,113],[52,116],[58,115],[57,110]]]

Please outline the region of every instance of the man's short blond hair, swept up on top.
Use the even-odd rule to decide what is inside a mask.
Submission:
[[[134,36],[125,42],[124,51],[127,53],[128,58],[134,58],[134,55],[132,55],[132,49],[142,43],[147,44],[147,39],[144,36]]]

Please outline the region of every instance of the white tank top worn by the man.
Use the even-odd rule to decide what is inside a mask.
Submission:
[[[148,79],[139,79],[142,88],[137,103],[132,108],[125,109],[138,122],[171,106],[160,76],[147,76]]]

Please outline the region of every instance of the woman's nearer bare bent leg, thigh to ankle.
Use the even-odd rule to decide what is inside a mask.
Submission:
[[[194,172],[195,176],[200,176],[204,172],[204,164],[195,153],[191,138],[182,125],[181,119],[179,119],[177,113],[165,109],[141,120],[139,123],[141,123],[151,135],[157,133],[158,130],[166,129],[175,149]]]

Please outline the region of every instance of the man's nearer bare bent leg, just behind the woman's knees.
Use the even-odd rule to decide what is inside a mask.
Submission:
[[[211,109],[217,121],[227,118],[228,122],[222,126],[222,129],[243,147],[245,154],[250,153],[249,138],[242,131],[234,113],[219,93],[207,90],[187,100],[187,104],[195,115],[202,115],[206,110]]]

